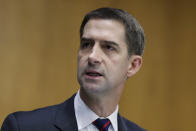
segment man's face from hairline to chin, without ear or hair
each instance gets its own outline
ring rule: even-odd
[[[123,24],[116,20],[89,20],[78,52],[77,77],[81,88],[95,93],[122,88],[129,66]]]

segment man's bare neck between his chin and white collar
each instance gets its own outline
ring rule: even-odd
[[[80,89],[80,97],[84,103],[99,117],[107,117],[111,115],[120,100],[120,94],[93,95],[87,93],[83,88]]]

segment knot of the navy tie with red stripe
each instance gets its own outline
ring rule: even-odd
[[[99,131],[108,131],[108,128],[111,123],[109,119],[98,118],[93,122],[93,124],[99,129]]]

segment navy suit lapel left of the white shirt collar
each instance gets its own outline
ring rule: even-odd
[[[74,110],[74,98],[75,94],[57,108],[54,124],[61,131],[78,130]]]

